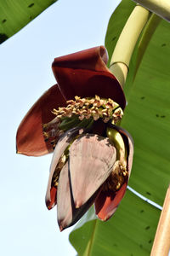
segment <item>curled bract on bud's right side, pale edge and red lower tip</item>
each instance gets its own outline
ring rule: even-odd
[[[128,178],[130,177],[132,165],[133,165],[133,138],[131,135],[122,127],[118,127],[113,125],[114,128],[122,134],[123,140],[127,145],[127,170],[128,170]],[[113,192],[109,190],[108,192],[101,191],[96,198],[94,205],[95,211],[98,217],[102,220],[107,220],[111,218],[114,212],[116,212],[116,208],[118,207],[120,201],[126,192],[127,182],[122,185],[122,188],[118,191]]]

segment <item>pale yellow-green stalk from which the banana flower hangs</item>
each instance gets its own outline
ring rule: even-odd
[[[141,6],[136,6],[129,16],[126,25],[116,43],[111,57],[110,70],[116,79],[124,85],[127,78],[129,61],[133,54],[133,49],[142,32],[144,25],[149,19],[150,12]]]

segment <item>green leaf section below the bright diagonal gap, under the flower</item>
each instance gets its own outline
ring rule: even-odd
[[[127,191],[107,222],[94,219],[90,209],[71,232],[70,241],[79,256],[150,255],[159,215],[160,210]]]

